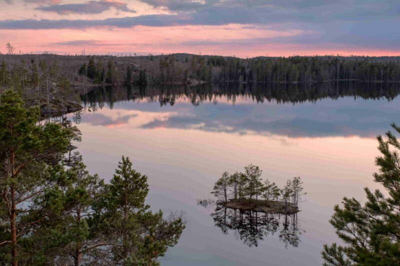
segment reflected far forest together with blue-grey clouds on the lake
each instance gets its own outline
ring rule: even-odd
[[[81,98],[86,110],[92,113],[85,119],[93,125],[119,126],[128,124],[131,119],[143,121],[140,115],[151,112],[158,115],[151,115],[151,119],[137,127],[290,138],[375,138],[400,115],[396,98],[399,92],[394,84],[375,83],[149,86],[98,88]],[[105,103],[110,109],[118,109],[118,117],[107,116],[105,112],[93,114]],[[156,103],[159,103],[158,108]],[[121,108],[121,105],[124,106]]]

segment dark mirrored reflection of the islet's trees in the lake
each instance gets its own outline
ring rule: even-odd
[[[304,232],[298,228],[297,214],[267,214],[217,206],[211,217],[222,234],[234,231],[236,238],[248,247],[257,247],[264,237],[278,231],[279,240],[286,249],[288,246],[297,247],[299,235]]]

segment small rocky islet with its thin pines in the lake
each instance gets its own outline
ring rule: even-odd
[[[244,172],[232,175],[224,172],[214,184],[213,194],[218,198],[217,208],[262,213],[294,214],[299,212],[298,202],[303,193],[299,177],[287,180],[282,189],[268,179],[261,179],[258,166],[248,165]]]

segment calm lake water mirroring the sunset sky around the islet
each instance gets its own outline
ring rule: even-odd
[[[163,266],[321,265],[322,245],[337,242],[333,206],[379,187],[375,137],[400,123],[398,92],[380,84],[96,89],[81,96],[76,146],[106,181],[121,155],[130,157],[148,176],[147,204],[185,213]],[[301,177],[297,219],[197,204],[213,199],[222,172],[250,163],[278,186]]]

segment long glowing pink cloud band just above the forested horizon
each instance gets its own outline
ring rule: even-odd
[[[398,55],[400,49],[365,48],[338,43],[290,43],[285,38],[314,36],[314,31],[257,27],[247,24],[222,26],[186,25],[133,28],[95,27],[79,29],[0,30],[3,43],[11,42],[18,52],[160,54],[174,52],[235,55]],[[275,38],[278,38],[276,41]],[[5,49],[5,47],[4,47]],[[4,51],[3,51],[4,52]]]

